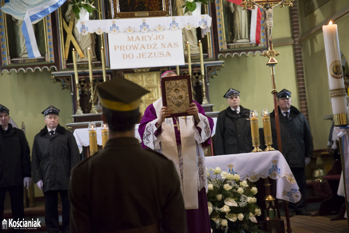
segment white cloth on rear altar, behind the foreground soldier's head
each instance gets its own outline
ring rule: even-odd
[[[138,126],[137,124],[134,129],[134,136],[138,139],[139,142],[141,142],[141,137],[138,133]],[[101,133],[101,127],[97,128],[97,144],[102,145],[102,133]],[[90,145],[90,139],[88,134],[88,128],[81,128],[81,129],[75,129],[73,133],[77,147],[79,148],[79,152],[82,152],[82,146],[89,146]]]

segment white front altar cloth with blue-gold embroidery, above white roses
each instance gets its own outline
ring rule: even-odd
[[[230,169],[228,165],[233,167]],[[297,182],[280,151],[210,156],[206,157],[206,167],[237,173],[241,181],[256,182],[269,176],[276,180],[276,198],[294,203],[300,200]]]

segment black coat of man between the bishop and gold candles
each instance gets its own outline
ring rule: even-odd
[[[218,114],[215,155],[250,153],[253,150],[250,110],[240,105],[240,113],[230,106]]]

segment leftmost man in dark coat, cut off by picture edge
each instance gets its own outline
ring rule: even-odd
[[[13,219],[23,220],[23,183],[29,188],[31,180],[30,149],[22,130],[12,127],[9,109],[0,104],[0,215],[3,219],[5,195],[11,198]],[[23,232],[21,229],[15,232]]]

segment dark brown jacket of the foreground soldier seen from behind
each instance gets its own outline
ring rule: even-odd
[[[172,161],[142,149],[134,137],[107,141],[103,151],[73,168],[71,232],[117,232],[162,223],[186,233],[184,201]]]

